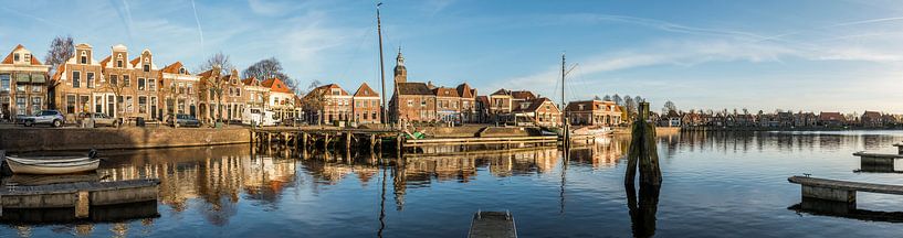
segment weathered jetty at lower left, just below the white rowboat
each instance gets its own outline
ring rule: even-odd
[[[6,208],[75,207],[75,217],[87,217],[90,206],[157,201],[159,180],[77,182],[0,188],[0,215]]]

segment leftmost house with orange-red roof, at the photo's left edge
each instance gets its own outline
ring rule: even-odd
[[[46,108],[49,68],[21,44],[0,62],[0,120]]]

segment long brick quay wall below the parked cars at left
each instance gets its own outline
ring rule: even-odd
[[[246,128],[9,128],[0,129],[0,150],[81,151],[201,147],[251,142]]]

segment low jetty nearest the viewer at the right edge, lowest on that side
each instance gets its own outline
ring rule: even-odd
[[[855,207],[855,193],[880,193],[903,195],[903,186],[889,184],[873,184],[838,180],[816,178],[808,176],[791,176],[787,181],[802,186],[804,198],[843,202]]]

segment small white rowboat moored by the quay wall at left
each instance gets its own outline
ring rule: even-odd
[[[101,159],[88,156],[34,156],[19,158],[6,155],[7,164],[14,174],[72,174],[97,170]]]

